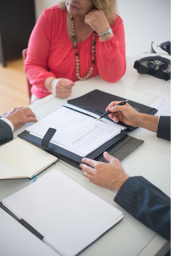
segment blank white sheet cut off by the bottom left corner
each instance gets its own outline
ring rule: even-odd
[[[0,208],[1,256],[60,256]]]

